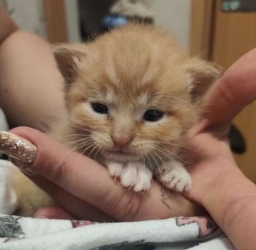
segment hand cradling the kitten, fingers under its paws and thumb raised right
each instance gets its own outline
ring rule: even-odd
[[[205,116],[188,134],[188,143],[193,153],[197,154],[198,161],[192,166],[193,188],[185,196],[206,207],[206,200],[215,195],[216,190],[230,190],[228,187],[234,181],[246,180],[230,153],[226,128],[234,115],[254,100],[256,75],[254,64],[250,62],[255,57],[256,51],[253,50],[220,78],[206,102]],[[240,82],[245,84],[241,85]],[[153,182],[146,195],[136,196],[114,182],[102,166],[86,157],[78,157],[77,153],[67,153],[67,149],[49,141],[45,135],[26,128],[14,129],[12,132],[38,146],[38,157],[31,169],[40,177],[33,178],[33,181],[80,219],[88,219],[93,214],[102,216],[103,220],[106,217],[146,220],[195,214],[187,200],[174,192],[164,194],[156,182]],[[66,159],[63,157],[65,155],[69,157]],[[81,165],[86,166],[86,171],[79,167]],[[51,208],[38,212],[38,216],[42,214],[57,216],[56,210]]]

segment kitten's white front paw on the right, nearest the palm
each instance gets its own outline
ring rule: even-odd
[[[180,162],[171,161],[160,168],[157,177],[166,188],[174,189],[177,192],[190,190],[192,186],[190,174]]]

